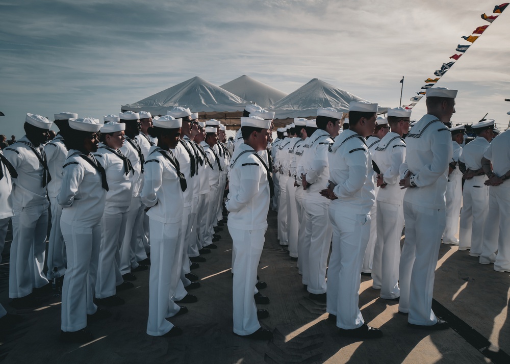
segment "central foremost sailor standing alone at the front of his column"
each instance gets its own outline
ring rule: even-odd
[[[230,212],[228,231],[233,240],[234,332],[258,340],[270,340],[273,336],[260,326],[259,318],[269,314],[257,310],[253,297],[271,197],[269,167],[257,152],[267,146],[270,125],[271,120],[241,118],[244,143],[233,155],[230,193],[225,202]]]

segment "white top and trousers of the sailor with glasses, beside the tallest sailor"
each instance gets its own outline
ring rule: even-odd
[[[404,191],[400,189],[400,165],[405,160],[405,142],[397,133],[384,136],[375,149],[373,159],[384,176],[385,188],[378,190],[377,243],[380,259],[374,257],[372,287],[380,289],[380,297],[394,299],[400,296],[398,288],[398,265],[400,262],[400,238],[404,226],[402,202]]]

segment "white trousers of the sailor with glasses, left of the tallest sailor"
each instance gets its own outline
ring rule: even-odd
[[[404,227],[402,205],[377,201],[377,242],[375,251],[380,259],[372,266],[372,287],[380,289],[380,297],[394,299],[400,296],[398,266],[400,263],[400,238]]]

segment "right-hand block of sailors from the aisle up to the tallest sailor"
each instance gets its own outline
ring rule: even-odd
[[[351,102],[349,128],[340,135],[343,115],[327,108],[318,110],[316,120],[295,119],[286,128],[290,138],[273,143],[278,238],[298,257],[304,288],[326,302],[341,335],[381,335],[364,323],[358,307],[362,272],[371,273],[381,298],[399,300],[410,326],[448,327],[433,314],[431,301],[453,153],[445,124],[455,96],[456,90],[427,90],[428,114],[411,131],[411,111],[391,109],[388,119],[376,119],[377,104]]]

